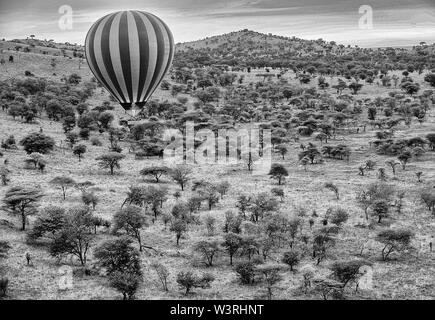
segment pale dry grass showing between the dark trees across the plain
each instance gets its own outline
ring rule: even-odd
[[[90,79],[90,73],[87,66],[78,70],[77,59],[57,58],[59,71],[57,76],[53,76],[53,72],[49,65],[51,57],[35,54],[21,54],[18,63],[14,64],[14,68],[8,65],[7,73],[2,73],[1,79],[13,78],[17,75],[22,75],[25,70],[34,72],[38,76],[44,76],[52,80],[59,80],[65,73],[69,75],[72,72],[78,72],[84,80]],[[253,71],[255,74],[255,71]],[[253,81],[252,74],[247,74],[247,81]],[[415,76],[419,82],[419,76]],[[256,79],[257,81],[258,79]],[[295,80],[292,80],[295,82]],[[336,79],[334,79],[336,81]],[[377,85],[365,85],[360,98],[373,97],[375,95],[386,95],[388,89]],[[158,91],[157,98],[170,99],[168,92]],[[98,92],[91,101],[93,105],[101,103],[107,99],[106,94]],[[118,110],[119,111],[119,110]],[[120,112],[118,112],[120,114]],[[122,169],[114,176],[108,175],[106,171],[98,168],[97,162],[94,160],[107,150],[107,137],[101,135],[101,140],[104,141],[102,147],[91,146],[89,142],[85,142],[88,151],[84,155],[82,162],[72,155],[71,150],[59,147],[61,141],[64,140],[64,134],[59,123],[41,120],[39,124],[25,124],[19,121],[12,120],[11,117],[0,113],[0,140],[13,134],[19,141],[26,134],[38,131],[43,128],[44,133],[54,137],[56,140],[56,150],[48,155],[48,166],[46,173],[38,173],[33,170],[24,168],[24,159],[26,154],[22,150],[6,151],[4,157],[9,159],[9,167],[13,171],[11,185],[37,186],[44,191],[44,198],[41,206],[49,204],[61,206],[74,206],[81,202],[80,193],[77,190],[70,189],[67,192],[65,201],[61,198],[59,190],[53,189],[49,185],[49,181],[58,175],[69,175],[76,181],[90,180],[94,182],[101,191],[98,195],[101,202],[96,208],[96,214],[106,219],[111,219],[116,210],[121,206],[125,192],[130,185],[144,184],[152,185],[153,183],[144,181],[139,175],[139,171],[152,164],[159,163],[157,159],[149,159],[138,161],[134,159],[132,154],[127,154],[125,160],[122,161]],[[414,123],[410,128],[402,126],[396,133],[396,137],[411,137],[424,136],[427,132],[435,131],[434,110],[423,125]],[[379,166],[384,166],[386,157],[378,156],[374,150],[368,146],[368,141],[373,139],[374,130],[367,128],[367,132],[360,134],[349,134],[340,136],[337,141],[331,140],[331,144],[344,143],[351,146],[353,153],[349,162],[336,161],[327,159],[324,165],[309,166],[305,172],[302,167],[297,164],[297,153],[299,152],[300,143],[305,143],[304,139],[299,143],[289,145],[289,154],[285,160],[281,160],[276,156],[275,161],[286,166],[289,171],[289,177],[285,189],[285,200],[281,203],[280,211],[285,214],[293,215],[294,208],[305,206],[308,208],[308,214],[313,210],[319,214],[316,226],[320,226],[321,216],[330,206],[342,206],[349,210],[351,218],[346,223],[343,232],[340,234],[340,239],[336,247],[332,250],[330,259],[316,267],[317,274],[327,272],[328,265],[332,259],[351,259],[357,256],[359,247],[362,242],[374,237],[375,233],[384,228],[383,226],[375,226],[373,229],[360,228],[356,225],[364,222],[363,212],[356,205],[355,195],[360,188],[376,181],[376,172],[370,172],[366,176],[358,176],[357,168],[367,159],[374,159]],[[100,137],[98,134],[95,136]],[[307,139],[308,141],[308,139]],[[124,147],[124,153],[127,148]],[[427,153],[419,161],[414,161],[406,171],[398,170],[397,178],[393,179],[389,169],[388,182],[395,185],[397,189],[406,191],[404,212],[401,215],[392,214],[392,219],[388,220],[395,226],[410,227],[416,232],[417,238],[414,241],[414,246],[420,246],[421,242],[433,235],[435,230],[435,220],[430,216],[429,212],[418,201],[418,190],[422,184],[417,182],[415,172],[423,171],[423,180],[425,184],[435,185],[435,154]],[[217,205],[215,209],[208,212],[206,209],[201,211],[201,216],[211,214],[217,218],[219,223],[222,223],[225,211],[235,209],[235,201],[240,193],[258,193],[270,190],[275,187],[275,182],[271,181],[268,176],[252,177],[241,166],[224,167],[218,165],[211,166],[196,166],[194,168],[195,179],[207,179],[211,181],[228,180],[231,183],[231,190],[227,196]],[[334,195],[326,190],[323,185],[327,181],[334,182],[340,190],[340,200],[336,200]],[[166,180],[164,185],[170,188],[170,193],[173,194],[179,187],[172,181]],[[0,187],[0,198],[3,198],[6,192],[6,187]],[[190,191],[183,193],[183,198],[188,197]],[[174,200],[168,201],[164,210],[169,211]],[[8,219],[18,225],[16,217],[7,216],[5,212],[0,211],[0,219]],[[34,218],[30,219],[30,224]],[[306,220],[308,218],[305,218]],[[306,222],[306,221],[305,221]],[[220,229],[220,226],[218,226]],[[304,224],[304,232],[309,232],[309,226]],[[108,234],[99,234],[93,244],[93,248],[104,239],[111,237]],[[137,294],[139,299],[170,299],[180,298],[181,292],[176,287],[175,276],[178,271],[184,268],[190,268],[194,265],[197,271],[208,271],[215,275],[216,280],[212,288],[207,290],[198,289],[196,294],[189,296],[193,299],[253,299],[264,296],[264,288],[262,286],[242,286],[239,284],[236,274],[228,266],[228,258],[221,256],[216,266],[212,268],[202,268],[197,266],[197,259],[193,258],[195,254],[191,247],[200,239],[207,238],[204,227],[192,226],[185,239],[182,239],[179,247],[175,246],[175,238],[168,230],[164,230],[161,222],[156,222],[149,228],[143,231],[144,243],[151,245],[159,250],[160,255],[155,255],[151,252],[142,254],[142,263],[144,273],[147,274],[145,282],[140,287]],[[0,239],[7,240],[12,244],[9,258],[6,261],[6,272],[10,279],[10,298],[12,299],[114,299],[120,295],[106,285],[106,280],[101,276],[74,276],[74,286],[70,290],[59,290],[58,282],[60,279],[59,267],[60,264],[50,257],[49,253],[44,248],[30,247],[25,243],[25,234],[16,229],[7,229],[0,227]],[[33,266],[27,267],[25,261],[25,253],[30,252],[33,256]],[[353,299],[433,299],[435,297],[435,289],[432,285],[434,280],[433,270],[435,268],[435,256],[428,252],[428,247],[422,248],[422,252],[416,257],[416,254],[407,255],[405,258],[398,258],[389,263],[379,261],[380,245],[373,240],[369,241],[367,249],[364,252],[365,257],[374,262],[374,289],[370,292],[361,292],[357,295],[351,295]],[[89,254],[89,264],[92,265],[94,260],[92,252]],[[167,266],[170,270],[170,292],[165,293],[161,290],[156,274],[151,270],[150,263],[158,259],[161,263]],[[78,268],[77,262],[64,261]],[[304,259],[301,265],[312,264],[313,261],[308,257]],[[286,272],[284,280],[280,282],[279,288],[276,290],[275,298],[280,299],[301,299],[305,296],[297,294],[297,287],[301,283],[301,275],[299,273]],[[305,298],[318,298],[308,296]]]

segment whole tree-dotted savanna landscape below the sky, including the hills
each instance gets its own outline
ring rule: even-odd
[[[434,45],[182,43],[134,117],[81,46],[0,58],[0,299],[434,298]],[[186,121],[271,129],[270,171],[164,163]]]

